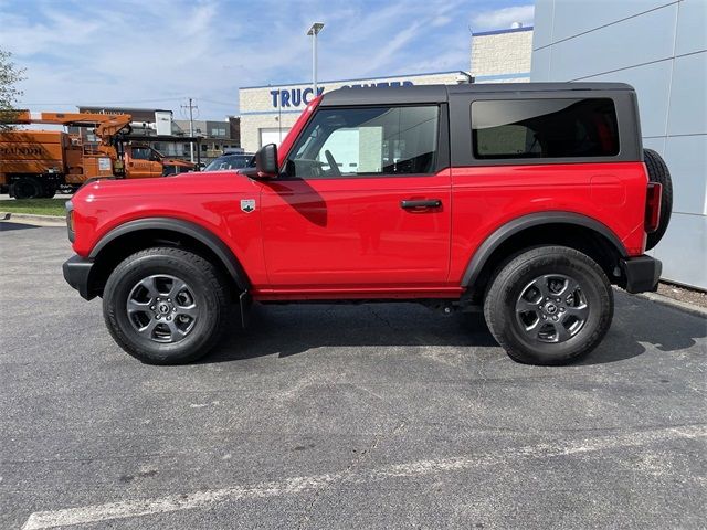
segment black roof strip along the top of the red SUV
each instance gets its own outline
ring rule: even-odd
[[[569,91],[633,91],[625,83],[469,83],[462,85],[414,85],[338,88],[327,92],[321,106],[391,105],[400,103],[444,103],[450,95],[463,94],[520,94]]]

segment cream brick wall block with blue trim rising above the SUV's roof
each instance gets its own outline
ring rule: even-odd
[[[532,28],[472,34],[471,74],[475,83],[530,81]]]

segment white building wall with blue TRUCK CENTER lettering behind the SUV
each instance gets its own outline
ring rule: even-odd
[[[409,83],[413,85],[455,84],[457,76],[462,73],[463,72],[440,72],[370,80],[321,82],[318,88],[324,88],[326,93],[341,88],[342,86],[378,85],[381,83]],[[262,146],[261,138],[263,136],[268,140],[279,138],[281,136],[282,138],[285,137],[306,106],[306,103],[302,100],[302,94],[308,88],[312,89],[310,83],[239,89],[241,146],[245,152],[256,151]],[[288,93],[288,100],[286,102],[282,99],[283,92]],[[295,100],[293,100],[293,95]],[[295,103],[297,104],[295,105]]]

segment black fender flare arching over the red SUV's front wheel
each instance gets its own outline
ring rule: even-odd
[[[247,279],[247,275],[245,274],[245,271],[241,266],[241,263],[235,257],[231,248],[229,248],[229,246],[213,232],[204,229],[199,224],[184,221],[182,219],[144,218],[137,219],[135,221],[128,221],[127,223],[120,224],[119,226],[116,226],[107,234],[105,234],[93,247],[91,254],[88,255],[88,258],[95,259],[98,254],[101,254],[101,251],[103,251],[116,239],[131,232],[139,232],[143,230],[168,230],[170,232],[183,234],[199,241],[211,252],[213,252],[213,254],[221,261],[231,277],[234,279],[239,289],[249,289],[250,282]]]

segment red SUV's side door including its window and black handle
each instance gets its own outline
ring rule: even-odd
[[[446,124],[446,105],[318,109],[279,178],[263,182],[272,286],[443,284],[451,222]]]

